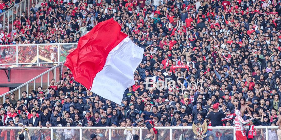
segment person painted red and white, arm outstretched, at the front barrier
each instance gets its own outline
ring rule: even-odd
[[[247,140],[247,137],[246,137],[245,133],[243,132],[244,131],[243,124],[249,123],[250,121],[252,121],[254,119],[254,117],[244,121],[244,119],[241,117],[242,114],[241,114],[240,110],[235,110],[234,113],[236,114],[236,117],[233,121],[233,124],[235,124],[235,128],[236,128],[236,133],[235,133],[236,140]]]

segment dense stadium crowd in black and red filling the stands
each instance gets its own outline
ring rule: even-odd
[[[11,1],[0,0],[0,9],[3,2]],[[145,111],[153,112],[155,126],[204,120],[232,126],[234,118],[225,117],[237,109],[245,120],[254,117],[246,125],[275,126],[281,118],[280,1],[44,0],[32,6],[30,15],[16,17],[11,35],[4,31],[3,44],[77,42],[76,31],[113,18],[145,49],[143,61],[121,105],[87,90],[67,70],[47,93],[38,87],[0,103],[0,126],[145,126]],[[176,88],[166,84],[171,80]],[[147,88],[162,86],[159,81],[165,89]]]

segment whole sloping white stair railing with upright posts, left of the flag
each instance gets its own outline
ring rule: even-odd
[[[55,81],[60,80],[60,78],[61,78],[60,73],[62,72],[62,65],[63,65],[64,62],[58,63],[56,66],[54,66],[54,67],[48,69],[47,71],[41,73],[37,77],[34,77],[31,80],[25,82],[21,86],[18,86],[17,88],[2,94],[0,96],[0,100],[2,100],[3,103],[5,103],[5,98],[12,93],[15,94],[15,97],[17,99],[20,99],[21,93],[23,91],[27,91],[27,93],[31,93],[31,91],[36,90],[38,86],[41,86],[43,91],[47,90],[46,93],[48,93],[48,86],[50,84],[50,81],[52,79],[54,79]]]

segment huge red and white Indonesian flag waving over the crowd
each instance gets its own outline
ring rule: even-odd
[[[79,39],[65,62],[75,81],[117,104],[126,88],[135,84],[134,72],[144,52],[120,30],[113,19],[100,22]]]

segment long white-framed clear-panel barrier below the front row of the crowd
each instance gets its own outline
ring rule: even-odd
[[[1,137],[10,134],[11,139],[16,139],[22,127],[1,127]],[[150,132],[143,127],[27,127],[31,139],[75,139],[89,140],[92,133],[98,134],[102,140],[126,140],[137,134],[140,140],[150,139]],[[195,139],[192,127],[155,127],[158,130],[157,140],[186,140]],[[254,139],[277,140],[278,126],[255,126]],[[23,132],[27,139],[27,132]],[[235,140],[235,128],[232,126],[208,127],[205,133],[209,140]],[[277,138],[277,139],[274,139]]]

